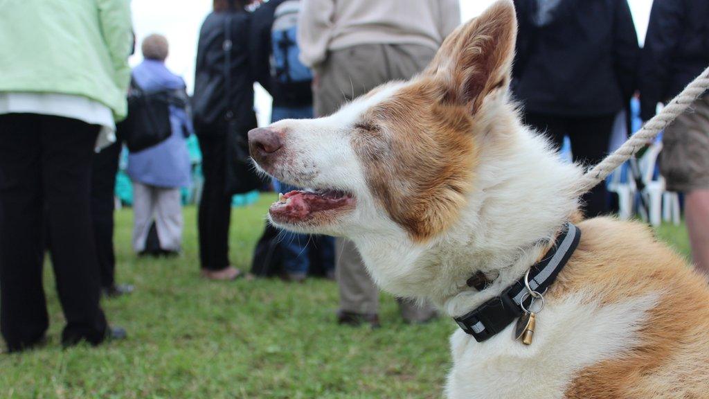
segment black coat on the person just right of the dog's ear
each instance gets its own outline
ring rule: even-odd
[[[626,0],[562,0],[547,24],[534,22],[536,0],[514,2],[513,92],[525,111],[600,116],[627,104],[640,48]]]

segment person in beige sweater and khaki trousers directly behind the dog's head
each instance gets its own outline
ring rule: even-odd
[[[390,80],[408,80],[432,60],[460,24],[458,0],[302,0],[301,61],[315,72],[316,116]],[[337,239],[340,324],[379,326],[379,290],[352,241]],[[406,322],[435,317],[432,305],[401,301]]]

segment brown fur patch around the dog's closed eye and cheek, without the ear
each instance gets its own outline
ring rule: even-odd
[[[450,226],[473,178],[474,121],[440,94],[431,80],[402,89],[369,110],[352,139],[372,192],[416,240]]]

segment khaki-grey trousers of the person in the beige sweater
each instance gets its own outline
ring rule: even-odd
[[[340,106],[391,80],[407,80],[423,70],[435,50],[420,45],[355,45],[331,51],[316,71],[318,82],[313,88],[317,116],[327,116]],[[367,273],[352,241],[337,239],[335,273],[340,285],[340,310],[376,314],[379,290]],[[418,307],[399,300],[401,315],[408,322],[430,319],[432,306]]]

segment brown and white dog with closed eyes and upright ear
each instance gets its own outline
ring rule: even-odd
[[[512,2],[498,1],[413,80],[251,131],[259,168],[313,189],[281,197],[272,223],[352,239],[381,288],[452,317],[520,279],[576,219],[582,170],[520,123],[508,94],[515,34]],[[447,395],[708,398],[706,281],[640,224],[577,225],[533,344],[513,326],[482,343],[458,330]],[[481,291],[466,283],[479,271],[496,276]]]

